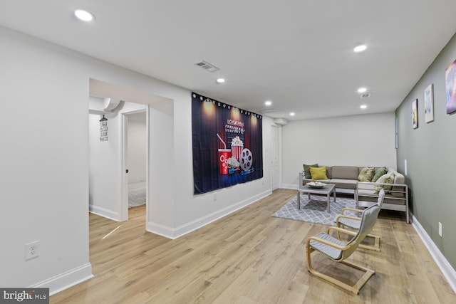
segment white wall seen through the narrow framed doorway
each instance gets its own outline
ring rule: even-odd
[[[128,115],[128,184],[145,182],[146,124],[145,112]]]

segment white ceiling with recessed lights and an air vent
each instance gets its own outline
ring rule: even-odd
[[[455,34],[455,11],[455,0],[0,0],[0,25],[246,110],[271,100],[269,116],[298,120],[395,110]]]

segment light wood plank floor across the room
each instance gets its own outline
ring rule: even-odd
[[[294,195],[276,190],[176,240],[145,232],[144,206],[130,209],[123,223],[90,214],[95,277],[53,295],[51,303],[456,303],[401,212],[381,211],[373,230],[382,238],[380,252],[360,248],[351,256],[376,271],[359,295],[311,276],[304,244],[325,226],[271,217]],[[313,255],[317,270],[358,278]]]

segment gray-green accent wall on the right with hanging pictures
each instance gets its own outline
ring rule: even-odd
[[[456,161],[456,112],[446,113],[445,69],[455,60],[456,38],[453,36],[396,110],[398,170],[405,172],[406,160],[411,211],[453,268],[456,268],[456,162],[452,159]],[[424,90],[431,83],[434,121],[426,123]],[[415,99],[418,99],[417,129],[412,127]],[[439,222],[442,237],[438,234]]]

